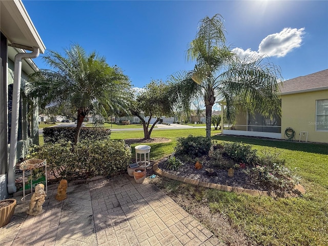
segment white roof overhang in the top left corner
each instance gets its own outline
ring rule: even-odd
[[[7,37],[9,45],[25,46],[26,50],[33,50],[33,47],[37,47],[40,53],[45,52],[46,47],[22,1],[0,1],[0,10],[1,32]]]

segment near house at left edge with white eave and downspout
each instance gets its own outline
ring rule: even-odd
[[[28,101],[18,95],[25,93],[27,75],[38,70],[31,58],[46,48],[22,1],[0,1],[0,13],[0,199],[4,199],[16,191],[17,160],[38,143],[38,112],[28,114]]]

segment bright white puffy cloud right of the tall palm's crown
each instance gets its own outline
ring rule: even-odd
[[[304,28],[284,28],[279,33],[270,34],[265,37],[260,43],[258,51],[252,51],[251,49],[243,50],[241,48],[235,48],[232,51],[240,58],[264,54],[283,57],[293,49],[301,46],[302,38],[305,33],[304,30]]]

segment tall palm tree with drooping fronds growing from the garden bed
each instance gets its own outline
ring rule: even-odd
[[[206,107],[206,136],[211,136],[212,107],[216,100],[227,103],[227,119],[242,105],[255,112],[272,116],[280,112],[277,96],[280,70],[266,57],[241,60],[226,46],[224,25],[220,14],[200,20],[197,35],[187,50],[187,60],[196,60],[193,71],[171,76],[176,100],[183,107],[200,96]]]

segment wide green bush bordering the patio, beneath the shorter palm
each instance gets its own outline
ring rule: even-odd
[[[125,172],[131,160],[131,148],[124,140],[80,141],[33,146],[27,158],[47,159],[49,170],[67,179],[111,176]]]

